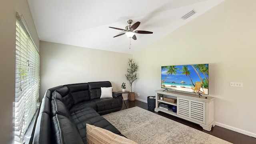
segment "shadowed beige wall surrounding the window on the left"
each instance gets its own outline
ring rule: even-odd
[[[30,14],[27,0],[3,0],[0,8],[0,140],[12,143],[12,102],[15,89],[15,32],[16,12],[23,14],[33,39],[39,48],[39,40]]]

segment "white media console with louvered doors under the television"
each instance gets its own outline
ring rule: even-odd
[[[159,94],[164,94],[164,97],[176,99],[177,101],[176,103],[170,103],[160,100]],[[199,94],[194,93],[156,90],[155,112],[161,111],[173,116],[177,116],[179,118],[199,124],[204,130],[210,131],[212,126],[215,126],[214,99],[214,97],[206,95],[199,97]],[[177,112],[173,112],[171,109],[166,110],[159,108],[158,104],[160,102],[177,106]]]

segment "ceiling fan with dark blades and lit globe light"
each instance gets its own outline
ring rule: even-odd
[[[136,28],[138,28],[138,26],[140,25],[140,22],[136,22],[135,24],[132,24],[132,20],[128,20],[127,21],[129,26],[126,26],[125,27],[125,30],[122,29],[122,28],[114,28],[114,27],[109,27],[109,28],[114,28],[114,29],[117,29],[117,30],[122,30],[124,31],[124,33],[122,34],[118,34],[116,36],[114,36],[113,38],[117,37],[117,36],[122,36],[123,34],[126,34],[126,36],[128,36],[128,38],[132,38],[134,40],[137,40],[136,36],[135,36],[135,33],[137,34],[153,34],[153,32],[149,32],[149,31],[144,31],[144,30],[136,30],[134,31]]]

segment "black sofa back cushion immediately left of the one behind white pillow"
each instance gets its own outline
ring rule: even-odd
[[[77,104],[79,102],[84,102],[86,100],[90,100],[87,83],[70,84],[67,86],[68,86],[68,88],[70,90],[70,94],[74,100],[74,104]]]

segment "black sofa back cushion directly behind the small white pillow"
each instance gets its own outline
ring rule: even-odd
[[[109,81],[105,82],[88,82],[88,88],[90,92],[90,100],[95,98],[100,98],[101,95],[101,87],[111,87],[111,83]]]

